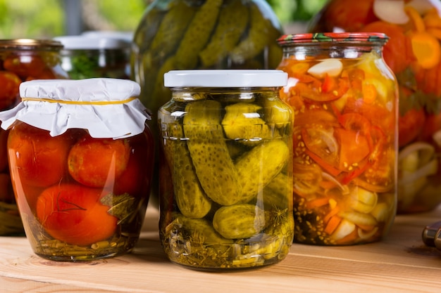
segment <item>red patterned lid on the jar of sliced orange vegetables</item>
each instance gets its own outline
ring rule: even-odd
[[[389,37],[382,32],[315,32],[304,34],[284,34],[277,41],[278,44],[317,44],[317,43],[380,43],[384,44]]]

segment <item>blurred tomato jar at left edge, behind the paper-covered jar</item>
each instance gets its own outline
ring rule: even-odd
[[[0,111],[19,103],[21,82],[67,77],[60,67],[62,47],[44,39],[0,40]],[[0,235],[24,235],[9,175],[7,140],[8,131],[0,129]]]

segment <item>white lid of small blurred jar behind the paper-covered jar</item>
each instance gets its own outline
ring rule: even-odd
[[[103,50],[130,46],[129,41],[115,37],[61,36],[54,40],[61,42],[65,50]]]

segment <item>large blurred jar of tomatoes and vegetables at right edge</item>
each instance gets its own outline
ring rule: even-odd
[[[441,203],[441,2],[330,0],[311,32],[383,32],[399,84],[399,214]]]

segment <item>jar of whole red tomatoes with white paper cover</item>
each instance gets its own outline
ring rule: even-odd
[[[124,79],[35,80],[0,112],[13,190],[35,254],[104,259],[135,246],[149,200],[149,115]]]

